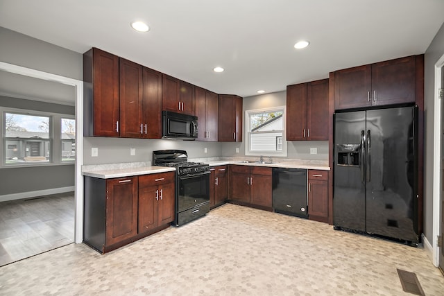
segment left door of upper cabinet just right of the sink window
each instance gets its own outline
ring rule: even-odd
[[[287,86],[287,140],[305,140],[306,136],[307,83],[289,85]]]

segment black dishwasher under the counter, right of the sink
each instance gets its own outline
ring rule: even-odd
[[[273,168],[273,209],[281,214],[308,218],[306,169]]]

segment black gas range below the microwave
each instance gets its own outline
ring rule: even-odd
[[[185,150],[153,151],[153,166],[176,168],[176,226],[184,225],[210,211],[210,166],[188,162]]]

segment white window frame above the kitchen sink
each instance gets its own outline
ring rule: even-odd
[[[282,112],[282,150],[276,151],[255,151],[250,149],[250,132],[251,130],[251,120],[250,116],[256,113],[265,113],[265,112]],[[273,156],[273,157],[287,157],[287,106],[278,106],[278,107],[267,107],[255,110],[246,110],[245,111],[245,155],[246,156]],[[275,133],[276,131],[272,131]],[[280,132],[280,130],[278,130]],[[253,132],[256,134],[266,134],[270,132]],[[276,145],[278,141],[276,140]]]

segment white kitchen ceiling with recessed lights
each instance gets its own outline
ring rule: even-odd
[[[98,47],[219,94],[253,96],[425,53],[443,12],[443,0],[0,0],[0,26],[78,53]],[[151,30],[133,31],[135,20]],[[294,49],[302,39],[310,46]],[[225,71],[214,73],[216,66]]]

